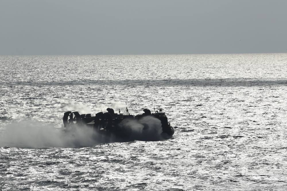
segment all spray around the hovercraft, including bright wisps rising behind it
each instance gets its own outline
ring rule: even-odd
[[[122,112],[127,105],[118,101],[99,101],[94,108],[96,112],[102,109],[115,108]],[[73,99],[59,99],[55,105],[51,105],[50,112],[43,111],[39,114],[42,121],[18,119],[1,127],[0,147],[77,147],[92,146],[100,143],[144,140],[161,140],[162,127],[159,119],[146,116],[140,120],[125,119],[119,127],[127,130],[130,134],[127,139],[114,139],[113,136],[97,133],[93,128],[74,126],[69,129],[63,128],[63,114],[65,111],[76,110],[80,114],[92,113],[87,105],[76,102]],[[129,110],[129,113],[133,111]],[[50,121],[48,123],[47,121]]]

